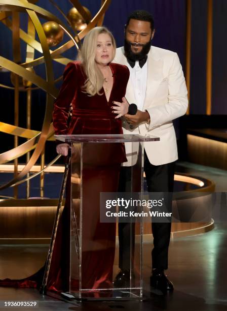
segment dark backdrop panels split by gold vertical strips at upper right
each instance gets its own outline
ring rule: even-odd
[[[207,0],[192,0],[191,114],[206,114]],[[213,0],[211,114],[227,114],[227,1]]]

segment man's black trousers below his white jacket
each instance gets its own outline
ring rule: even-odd
[[[147,159],[144,151],[144,172],[148,192],[170,193],[168,197],[168,211],[172,208],[173,181],[175,162],[153,165]],[[122,167],[120,173],[119,192],[130,191],[131,168]],[[152,267],[159,269],[168,268],[168,248],[170,242],[171,223],[152,223],[154,248],[152,251]],[[130,239],[130,233],[133,238]],[[130,254],[131,245],[131,254]],[[130,255],[134,257],[134,227],[130,223],[119,223],[119,267],[130,269]]]

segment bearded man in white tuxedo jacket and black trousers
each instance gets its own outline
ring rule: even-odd
[[[160,137],[160,141],[144,143],[144,171],[148,191],[172,193],[177,160],[176,135],[172,121],[187,110],[187,89],[177,54],[152,46],[154,34],[153,17],[143,10],[133,12],[125,26],[125,45],[117,49],[113,62],[129,68],[130,78],[125,98],[138,107],[135,115],[124,116],[124,134],[150,134]],[[126,153],[130,153],[130,150],[131,147],[126,144]],[[133,162],[128,161],[125,166],[134,165],[136,158]],[[124,178],[125,181],[130,179],[128,172],[124,167],[121,181]],[[119,191],[124,191],[124,187]],[[153,223],[152,230],[154,248],[150,285],[165,293],[173,290],[173,284],[164,272],[168,268],[171,223]],[[115,279],[115,285],[125,286],[130,275],[127,224],[119,224],[119,242],[121,270]]]

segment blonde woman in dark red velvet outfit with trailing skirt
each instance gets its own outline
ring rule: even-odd
[[[120,117],[128,112],[125,100],[129,70],[111,63],[116,43],[105,27],[93,28],[85,37],[81,61],[72,61],[64,71],[63,84],[54,104],[55,134],[122,134]],[[68,125],[69,106],[72,116]],[[117,192],[120,166],[126,162],[124,144],[106,144],[100,148],[101,161],[83,170],[82,288],[112,287],[116,224],[99,222],[99,193]],[[69,145],[57,143],[57,153],[67,155]],[[85,154],[86,155],[86,154]],[[92,157],[90,157],[92,159]],[[66,203],[59,222],[49,272],[47,290],[69,290],[70,179],[66,185]],[[44,268],[22,280],[1,281],[2,286],[37,287],[43,281]],[[75,287],[78,284],[75,282]]]

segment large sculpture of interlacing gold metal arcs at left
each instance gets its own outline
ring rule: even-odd
[[[51,0],[51,2],[54,3],[53,0]],[[82,17],[88,22],[87,12],[84,10],[79,0],[70,0],[70,2],[73,4],[75,8],[78,9]],[[59,77],[58,79],[54,80],[52,60],[55,60],[63,65],[68,64],[69,61],[71,61],[71,59],[63,57],[61,53],[67,51],[73,46],[75,46],[78,52],[80,52],[78,45],[80,44],[80,40],[82,40],[84,36],[89,32],[89,30],[92,29],[96,24],[97,25],[102,24],[105,11],[107,10],[110,2],[111,0],[101,0],[101,8],[97,12],[97,14],[93,17],[91,22],[88,23],[87,27],[83,29],[79,34],[77,33],[74,34],[74,30],[72,31],[60,19],[58,19],[55,15],[53,15],[49,11],[34,5],[33,4],[34,2],[31,3],[31,1],[28,2],[27,0],[0,0],[0,11],[2,11],[0,12],[0,21],[2,21],[8,28],[12,30],[14,39],[13,40],[14,62],[0,56],[0,69],[2,66],[4,70],[6,69],[14,73],[16,75],[17,85],[18,85],[18,78],[17,78],[18,76],[23,78],[23,81],[25,81],[24,83],[27,83],[26,81],[29,81],[27,85],[24,84],[28,87],[20,89],[20,91],[41,88],[47,93],[45,116],[41,132],[23,129],[16,125],[14,126],[6,125],[6,123],[0,122],[0,131],[14,135],[15,137],[20,136],[28,139],[25,143],[0,154],[0,163],[6,163],[8,161],[17,159],[21,155],[34,149],[31,158],[29,159],[23,170],[19,174],[17,174],[12,180],[2,185],[0,187],[0,190],[8,188],[9,186],[15,186],[41,174],[42,172],[45,171],[47,167],[51,166],[53,163],[57,161],[57,159],[60,158],[60,156],[58,156],[46,168],[42,169],[40,172],[37,172],[35,176],[27,175],[27,178],[23,179],[24,176],[30,171],[31,167],[35,164],[37,159],[40,157],[40,154],[44,150],[46,141],[53,140],[54,131],[51,119],[52,119],[54,98],[56,98],[58,95],[58,89],[55,87],[54,83],[59,79],[61,79],[62,77]],[[60,8],[58,9],[60,10]],[[22,29],[20,29],[19,12],[26,12],[28,14],[28,33],[25,33]],[[12,20],[9,18],[10,16],[12,16]],[[45,18],[46,20],[49,21],[57,22],[60,25],[60,27],[64,30],[64,32],[69,36],[70,40],[65,44],[61,45],[59,48],[55,50],[50,50],[47,44],[47,39],[44,33],[43,26],[38,16]],[[35,30],[37,32],[40,42],[35,40],[34,36]],[[19,55],[20,53],[19,54],[17,53],[17,50],[20,48],[19,44],[20,39],[27,44],[26,61],[23,64],[20,64],[21,63]],[[34,59],[34,50],[43,53],[43,56]],[[26,68],[33,68],[34,66],[43,63],[45,64],[46,67],[46,80],[36,75],[34,72],[26,69]],[[31,84],[36,85],[36,87],[30,87]],[[6,86],[3,84],[0,84],[0,86],[8,89],[15,89],[15,87]]]

